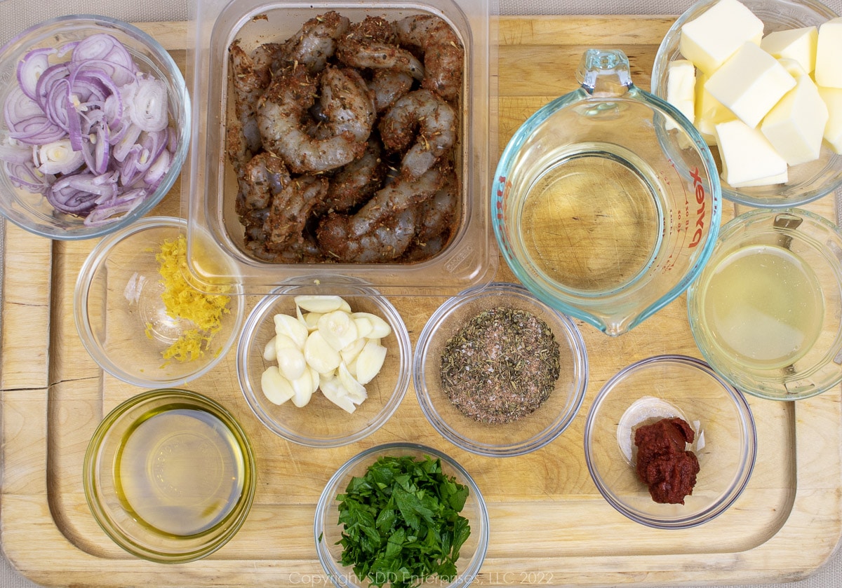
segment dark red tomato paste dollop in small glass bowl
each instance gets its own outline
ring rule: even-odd
[[[693,494],[699,460],[685,450],[695,432],[680,418],[661,419],[637,428],[637,476],[649,487],[652,500],[662,504],[684,504]]]

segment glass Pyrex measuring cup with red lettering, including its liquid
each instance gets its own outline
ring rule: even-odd
[[[705,141],[629,69],[620,50],[585,51],[581,87],[521,125],[492,188],[494,234],[520,282],[611,336],[688,288],[722,214]]]

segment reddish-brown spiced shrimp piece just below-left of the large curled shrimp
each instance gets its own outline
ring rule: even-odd
[[[326,177],[304,175],[290,181],[272,199],[264,225],[267,246],[282,250],[292,243],[304,242],[304,230],[310,211],[328,193]]]

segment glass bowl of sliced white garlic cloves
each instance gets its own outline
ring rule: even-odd
[[[359,441],[394,414],[409,386],[407,327],[386,297],[342,276],[284,285],[255,305],[237,377],[271,432],[307,447]]]

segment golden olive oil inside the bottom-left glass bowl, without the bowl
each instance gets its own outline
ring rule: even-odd
[[[193,408],[158,411],[126,433],[115,485],[139,521],[187,536],[232,510],[244,469],[237,438],[216,416]]]

